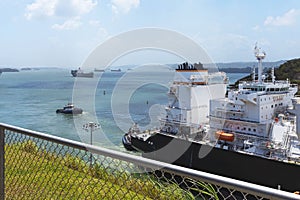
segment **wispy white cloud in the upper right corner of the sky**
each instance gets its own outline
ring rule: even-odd
[[[291,9],[284,13],[282,16],[268,16],[264,22],[266,26],[290,26],[296,22],[297,16],[299,15],[299,10]]]

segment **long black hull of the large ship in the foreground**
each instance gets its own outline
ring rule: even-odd
[[[293,163],[212,148],[160,133],[146,141],[132,137],[131,143],[146,158],[271,188],[280,186],[289,192],[300,191],[300,166]]]

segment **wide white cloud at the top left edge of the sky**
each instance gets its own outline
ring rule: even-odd
[[[89,13],[97,0],[35,0],[26,6],[25,17],[44,18],[52,16],[76,17]]]

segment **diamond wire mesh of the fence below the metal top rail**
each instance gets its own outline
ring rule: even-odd
[[[11,130],[5,130],[5,198],[265,199]]]

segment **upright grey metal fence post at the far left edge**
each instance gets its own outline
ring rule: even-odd
[[[5,185],[4,185],[4,127],[0,126],[0,200],[4,200],[5,198]]]

